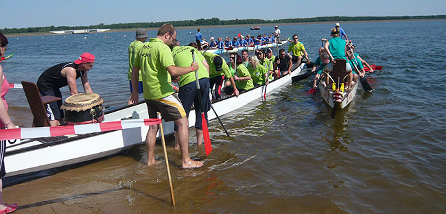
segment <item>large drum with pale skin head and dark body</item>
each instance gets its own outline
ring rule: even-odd
[[[65,99],[62,109],[67,125],[100,123],[104,120],[102,112],[104,100],[95,93],[80,93]]]

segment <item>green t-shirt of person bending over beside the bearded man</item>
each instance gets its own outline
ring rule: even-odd
[[[207,73],[207,69],[203,64],[204,56],[198,53],[198,50],[191,46],[177,46],[172,49],[172,56],[174,57],[175,65],[178,67],[190,67],[193,62],[191,49],[194,49],[195,60],[198,62],[198,80],[201,78],[209,78],[209,73]],[[180,81],[178,82],[178,86],[184,86],[185,84],[189,84],[191,82],[195,82],[195,72],[187,73],[185,75],[180,76]]]

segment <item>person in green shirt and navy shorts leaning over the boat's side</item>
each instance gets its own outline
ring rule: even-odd
[[[191,50],[195,52],[196,62],[198,63],[198,82],[200,84],[200,95],[202,101],[202,108],[204,112],[204,118],[207,120],[207,112],[211,107],[209,103],[209,64],[207,60],[198,53],[198,50],[191,46],[179,46],[179,43],[174,40],[171,46],[172,56],[174,56],[175,66],[177,67],[188,67],[193,62],[191,57]],[[180,98],[181,104],[186,112],[186,117],[189,119],[189,112],[191,111],[192,105],[199,106],[197,84],[196,84],[196,74],[195,72],[186,73],[180,75],[180,80],[178,81],[179,91],[178,98]],[[195,130],[197,137],[197,144],[201,145],[203,141],[203,128],[202,128],[202,117],[201,109],[195,108]],[[175,136],[178,136],[178,127],[174,126]],[[175,141],[175,149],[179,150],[180,145],[178,141]]]

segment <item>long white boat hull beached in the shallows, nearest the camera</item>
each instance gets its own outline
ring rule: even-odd
[[[292,76],[301,73],[304,64],[297,67],[291,75],[274,80],[268,84],[257,86],[249,91],[240,93],[239,97],[226,97],[213,103],[213,107],[219,116],[241,108],[246,104],[263,97],[264,90],[270,93],[291,82]],[[209,120],[215,119],[213,111],[208,113]],[[104,121],[120,121],[125,119],[148,118],[148,110],[144,102],[135,106],[124,106],[122,108],[106,112]],[[195,124],[195,112],[189,115],[189,127]],[[163,122],[165,135],[174,133],[174,123]],[[15,176],[43,169],[62,167],[86,160],[102,158],[127,150],[132,145],[143,143],[147,134],[148,126],[139,128],[128,128],[124,130],[100,132],[92,134],[56,136],[45,139],[21,139],[20,142],[7,143],[5,154],[6,176]]]

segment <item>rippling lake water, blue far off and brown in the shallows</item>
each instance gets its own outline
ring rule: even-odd
[[[333,24],[279,28],[286,37],[298,34],[315,60],[320,38],[329,38]],[[200,169],[180,169],[180,154],[167,139],[176,206],[170,204],[165,165],[145,166],[145,145],[30,175],[49,176],[19,184],[5,178],[9,187],[3,195],[19,203],[16,213],[445,213],[445,26],[446,21],[341,23],[362,58],[383,69],[367,75],[375,91],[359,88],[336,119],[319,93],[306,94],[310,78],[224,115],[231,139],[218,121],[210,121],[209,156],[189,130],[191,156],[204,160]],[[209,39],[274,29],[249,28],[202,32]],[[178,29],[177,38],[185,45],[195,33]],[[9,82],[36,82],[48,67],[89,51],[96,56],[89,71],[93,91],[117,108],[130,95],[127,47],[133,39],[134,32],[10,37],[6,53],[15,55],[1,66]],[[62,88],[64,98],[68,92]],[[6,99],[14,122],[31,126],[23,91],[11,89]],[[162,159],[161,145],[156,156]]]

